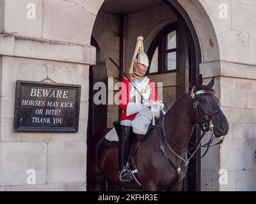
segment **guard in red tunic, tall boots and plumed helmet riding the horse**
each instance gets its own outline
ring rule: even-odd
[[[131,150],[132,131],[138,135],[146,135],[147,128],[154,117],[163,109],[157,103],[156,85],[145,76],[149,66],[148,56],[144,52],[143,37],[137,38],[128,77],[124,77],[120,87],[121,133],[119,145],[119,179],[131,181],[129,171],[129,153]],[[149,108],[151,107],[151,109]]]

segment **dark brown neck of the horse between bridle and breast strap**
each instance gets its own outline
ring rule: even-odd
[[[190,109],[191,98],[187,94],[164,116],[166,138],[175,146],[182,147],[181,149],[188,146],[195,128],[195,123],[191,121],[189,114]]]

